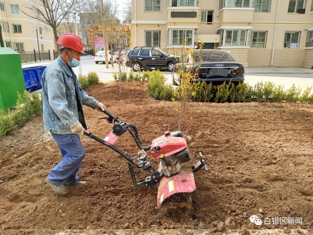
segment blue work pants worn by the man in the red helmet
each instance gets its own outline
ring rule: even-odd
[[[59,145],[62,161],[50,171],[48,180],[53,185],[78,184],[76,174],[85,156],[85,148],[81,144],[79,135],[51,134]]]

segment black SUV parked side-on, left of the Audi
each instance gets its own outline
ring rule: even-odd
[[[176,64],[174,55],[169,55],[155,47],[135,47],[126,56],[126,66],[134,71],[140,69],[167,69],[173,71]]]

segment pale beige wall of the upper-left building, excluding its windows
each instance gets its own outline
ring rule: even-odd
[[[38,26],[38,41],[39,49],[41,50],[41,44],[44,45],[44,50],[54,49],[54,37],[53,32],[49,30],[49,26],[38,22],[25,15],[23,11],[29,11],[25,6],[31,6],[29,1],[24,0],[0,0],[5,3],[5,12],[0,11],[0,20],[9,23],[9,33],[3,32],[3,41],[9,41],[12,43],[23,43],[25,51],[38,50],[36,28]],[[19,6],[19,13],[11,13],[10,4],[16,4]],[[12,24],[21,24],[22,33],[13,33]],[[40,34],[39,27],[42,28],[42,34]]]

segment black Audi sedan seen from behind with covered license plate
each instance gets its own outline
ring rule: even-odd
[[[202,62],[200,62],[200,53]],[[244,82],[244,66],[236,62],[229,53],[223,50],[203,49],[202,52],[200,50],[194,50],[194,53],[187,51],[179,58],[172,72],[172,84],[180,83],[179,76],[175,75],[177,69],[196,72],[198,66],[199,76],[196,81],[212,82],[216,85],[224,81],[232,81],[236,84]]]

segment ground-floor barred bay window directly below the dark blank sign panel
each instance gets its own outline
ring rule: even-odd
[[[171,29],[169,46],[184,45],[184,40],[187,38],[186,46],[194,45],[193,42],[194,29]]]

